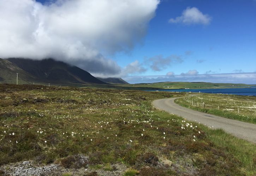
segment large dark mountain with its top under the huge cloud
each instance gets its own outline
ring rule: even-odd
[[[11,65],[12,69],[15,70],[15,73],[17,72],[16,70],[19,69],[19,78],[26,75],[25,80],[28,83],[35,82],[65,85],[106,84],[81,68],[61,61],[55,61],[54,59],[43,59],[37,61],[24,58],[8,58],[1,59],[1,61],[2,63],[5,63],[5,65]],[[2,70],[6,71],[5,67],[1,68],[1,72]],[[0,77],[2,77],[1,75]],[[2,77],[2,79],[5,80],[5,82],[8,82],[6,78]]]

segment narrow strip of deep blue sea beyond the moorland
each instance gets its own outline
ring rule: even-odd
[[[152,90],[150,90],[152,91]],[[213,94],[234,94],[234,95],[248,95],[256,96],[256,87],[251,88],[230,88],[230,89],[166,89],[159,90],[166,92],[202,92]]]

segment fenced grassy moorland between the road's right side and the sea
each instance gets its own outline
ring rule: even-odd
[[[193,101],[193,105],[192,105]],[[200,112],[256,124],[256,97],[224,94],[186,95],[175,100],[181,106]],[[205,107],[203,107],[205,103]]]

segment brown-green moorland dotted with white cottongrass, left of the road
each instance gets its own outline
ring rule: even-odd
[[[113,171],[119,163],[124,175],[256,174],[255,144],[151,105],[183,95],[0,84],[0,165],[76,168],[72,156],[83,154],[86,167]]]

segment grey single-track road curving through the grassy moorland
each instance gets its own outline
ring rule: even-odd
[[[190,121],[200,122],[201,124],[210,126],[212,128],[222,128],[226,132],[233,134],[238,138],[242,138],[252,143],[256,143],[255,124],[250,124],[238,120],[227,119],[212,114],[194,111],[174,103],[175,99],[178,98],[154,100],[152,104],[157,109],[176,114]]]

